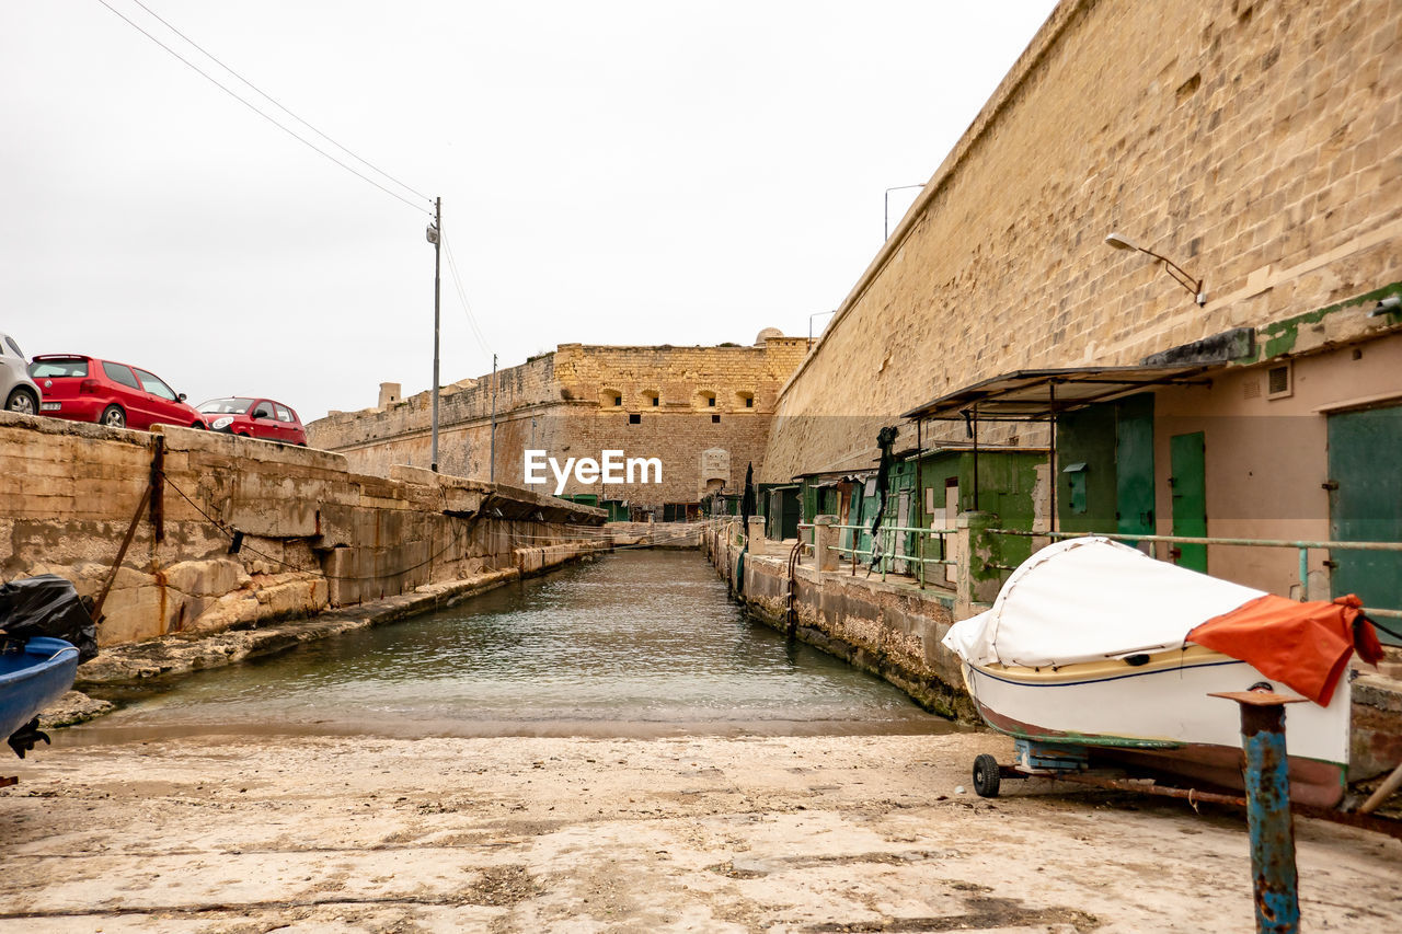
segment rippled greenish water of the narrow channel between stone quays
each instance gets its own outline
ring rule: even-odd
[[[618,551],[439,613],[136,694],[67,745],[199,733],[946,732],[885,682],[744,618],[697,551]]]

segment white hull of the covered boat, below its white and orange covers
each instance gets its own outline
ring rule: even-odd
[[[1143,658],[1143,656],[1141,656]],[[1137,666],[1123,659],[1056,670],[965,663],[983,719],[1019,739],[1087,746],[1095,759],[1242,788],[1241,715],[1209,694],[1266,682],[1255,668],[1199,647],[1162,652]],[[1276,691],[1294,696],[1281,684]],[[1290,797],[1333,806],[1349,763],[1349,683],[1328,707],[1286,708]]]

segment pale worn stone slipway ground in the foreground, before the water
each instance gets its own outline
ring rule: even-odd
[[[184,738],[0,774],[0,931],[1249,931],[1245,823],[977,798],[1002,738]],[[958,785],[969,788],[965,794]],[[1307,930],[1402,930],[1402,841],[1297,820]]]

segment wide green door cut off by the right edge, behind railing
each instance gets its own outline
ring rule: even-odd
[[[1329,417],[1329,537],[1402,541],[1402,405]],[[1335,548],[1333,595],[1402,610],[1402,554]],[[1388,628],[1399,620],[1380,617]],[[1399,639],[1378,632],[1384,641]]]

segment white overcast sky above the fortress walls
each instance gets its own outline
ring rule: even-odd
[[[0,4],[0,331],[304,421],[557,344],[806,334],[1050,14],[997,3]],[[916,189],[890,192],[892,227]],[[822,330],[826,317],[813,321]]]

